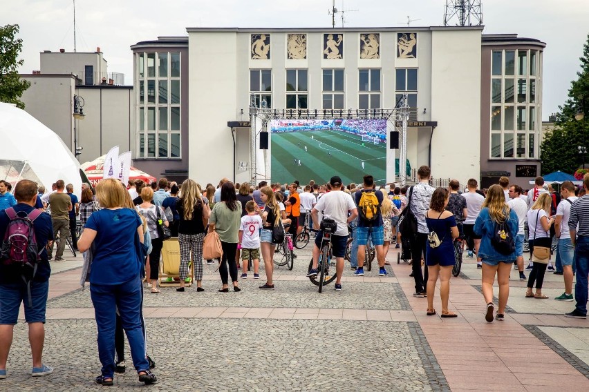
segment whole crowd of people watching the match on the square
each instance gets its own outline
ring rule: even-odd
[[[138,379],[145,384],[157,380],[151,373],[155,364],[147,355],[143,286],[151,293],[160,293],[160,257],[168,230],[169,235],[178,237],[180,247],[176,288],[180,293],[185,292],[190,268],[194,268],[196,292],[205,291],[203,263],[215,263],[203,260],[207,233],[216,233],[223,251],[217,261],[219,293],[230,292],[229,279],[232,291],[241,291],[239,279],[248,278],[250,261],[253,278],[259,279],[260,256],[265,282],[259,288],[275,288],[273,257],[278,244],[273,232],[281,225],[293,237],[307,224],[317,232],[307,274],[315,277],[324,246],[324,223],[333,222],[335,226],[330,232],[337,291],[342,290],[344,255],[350,235],[350,268],[357,276],[364,275],[366,246],[374,246],[379,275],[386,277],[389,247],[395,244],[395,248],[400,248],[402,244],[411,252],[413,295],[427,297],[427,315],[437,314],[433,302],[439,278],[440,317],[458,317],[449,309],[450,275],[455,263],[454,239],[465,238],[467,258],[476,257],[482,270],[487,322],[504,320],[512,265],[518,268],[520,279],[526,279],[526,232],[530,275],[525,297],[548,298],[542,286],[546,271],[554,269],[551,247],[555,236],[558,241],[554,273],[562,274],[565,283],[565,292],[555,300],[576,301],[574,310],[566,316],[586,318],[589,195],[585,193],[589,189],[589,175],[583,179],[581,189],[571,182],[561,184],[560,195],[544,188],[542,177],[536,178],[536,185],[529,191],[510,185],[505,177],[481,191],[476,179],[469,179],[464,192],[456,180],[449,183],[449,188],[433,188],[428,166],[419,168],[418,177],[418,184],[410,188],[390,184],[388,190],[385,186],[378,188],[371,175],[365,175],[359,186],[344,185],[337,175],[327,184],[311,181],[303,186],[298,181],[263,181],[257,186],[233,184],[227,178],[216,187],[202,187],[192,179],[176,184],[165,178],[153,184],[129,181],[124,186],[116,179],[104,179],[94,190],[83,184],[80,200],[73,195],[73,186],[63,180],[57,180],[48,193],[29,180],[21,180],[10,192],[10,184],[0,181],[0,237],[4,239],[0,253],[0,379],[7,375],[8,351],[21,303],[29,326],[31,374],[53,372],[42,362],[41,354],[50,261],[62,261],[64,253],[65,241],[60,241],[53,257],[57,235],[62,239],[71,236],[73,246],[84,255],[83,270],[88,271],[102,364],[95,381],[102,385],[112,385],[114,373],[125,369],[122,331],[127,333]],[[75,237],[78,216],[83,226],[80,238]],[[18,225],[20,233],[30,229],[30,235],[24,235],[26,241],[10,239]],[[24,259],[15,256],[18,246],[24,246]],[[577,283],[573,295],[574,273]],[[496,311],[495,279],[499,285]]]

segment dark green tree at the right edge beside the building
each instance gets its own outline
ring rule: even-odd
[[[581,166],[582,155],[579,150],[585,148],[585,161],[589,162],[589,118],[577,121],[574,115],[582,111],[589,117],[589,35],[583,45],[583,56],[579,57],[581,70],[577,72],[577,80],[571,82],[568,99],[559,106],[556,128],[544,135],[540,144],[542,173],[561,170],[574,173]]]

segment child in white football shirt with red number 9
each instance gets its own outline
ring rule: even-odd
[[[239,226],[239,244],[241,244],[241,261],[243,263],[241,279],[247,279],[250,256],[254,260],[254,279],[259,279],[262,218],[256,214],[256,203],[253,200],[245,203],[245,211],[247,215],[241,217],[241,226]]]

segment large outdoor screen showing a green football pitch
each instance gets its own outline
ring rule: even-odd
[[[386,182],[386,119],[278,119],[270,130],[272,182]]]

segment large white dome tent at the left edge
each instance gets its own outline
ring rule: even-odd
[[[40,121],[12,104],[0,102],[0,179],[14,185],[30,179],[51,191],[63,179],[80,195],[80,162],[64,141]]]

